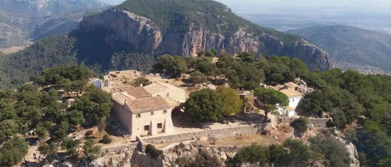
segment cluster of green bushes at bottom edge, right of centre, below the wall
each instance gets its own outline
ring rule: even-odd
[[[320,162],[325,167],[347,167],[350,158],[341,142],[333,138],[310,139],[310,146],[301,140],[287,139],[282,146],[251,145],[241,149],[230,162],[233,165],[250,163],[260,166],[314,166]]]

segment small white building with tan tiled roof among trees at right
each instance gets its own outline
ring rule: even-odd
[[[289,105],[287,107],[278,108],[278,111],[281,115],[285,115],[288,117],[296,115],[296,107],[300,104],[300,101],[303,98],[303,94],[297,91],[298,87],[299,86],[294,84],[293,82],[289,82],[284,85],[277,85],[274,87],[274,89],[282,92],[289,98]]]

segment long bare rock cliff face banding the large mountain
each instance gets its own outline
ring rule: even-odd
[[[106,33],[101,33],[102,29]],[[163,32],[148,18],[118,9],[85,17],[75,33],[101,36],[100,38],[113,51],[127,50],[155,56],[195,56],[201,50],[216,49],[226,50],[226,53],[232,55],[249,52],[255,55],[296,57],[305,62],[310,69],[326,70],[333,66],[328,53],[303,39],[284,44],[270,34],[255,36],[246,28],[240,28],[235,33],[224,36],[192,25],[187,31]]]

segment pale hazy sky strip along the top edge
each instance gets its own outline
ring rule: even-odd
[[[101,0],[117,5],[124,0]],[[235,12],[266,12],[281,9],[328,9],[365,12],[391,12],[391,0],[217,0]]]

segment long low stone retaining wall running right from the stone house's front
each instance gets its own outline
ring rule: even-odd
[[[255,125],[244,125],[244,126],[236,126],[229,128],[221,128],[221,129],[213,129],[213,130],[204,130],[197,132],[189,132],[189,133],[181,133],[176,135],[167,135],[161,137],[151,137],[144,139],[144,142],[157,144],[161,142],[168,141],[181,141],[181,140],[191,140],[193,138],[199,139],[200,137],[208,137],[208,138],[227,138],[234,137],[236,135],[248,135],[254,133],[261,133],[269,124],[255,124]]]

